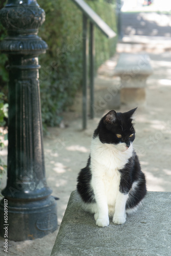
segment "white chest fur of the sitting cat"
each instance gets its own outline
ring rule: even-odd
[[[125,166],[131,156],[132,150],[127,153],[121,152],[115,148],[115,145],[101,143],[98,137],[92,140],[91,185],[97,191],[103,190],[108,206],[115,206],[121,178],[119,170]]]

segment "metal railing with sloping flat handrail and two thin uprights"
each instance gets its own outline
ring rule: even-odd
[[[90,20],[90,117],[94,118],[94,25],[108,38],[113,38],[116,33],[102,20],[97,13],[83,0],[72,0],[82,11],[83,26],[83,73],[82,73],[82,127],[87,128],[87,87],[88,87],[88,55],[89,55],[89,36],[88,36],[88,19]]]

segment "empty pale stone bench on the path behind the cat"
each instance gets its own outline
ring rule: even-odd
[[[120,77],[121,102],[145,103],[146,79],[153,73],[148,54],[121,53],[114,70]]]

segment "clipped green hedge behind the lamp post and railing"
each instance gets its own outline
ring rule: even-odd
[[[39,36],[47,42],[49,47],[46,54],[39,56],[42,123],[44,127],[55,126],[61,120],[62,111],[72,104],[76,91],[81,88],[82,13],[72,0],[37,2],[46,12],[46,21],[39,28]],[[116,32],[113,4],[115,1],[87,0],[86,2]],[[1,39],[5,35],[6,31],[2,29]],[[106,38],[98,29],[95,29],[96,69],[115,53],[116,40],[117,38]],[[7,83],[7,72],[4,69],[6,62],[7,57],[1,54],[0,89],[5,88]]]

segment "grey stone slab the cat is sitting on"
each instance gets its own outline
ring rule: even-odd
[[[171,250],[171,192],[148,192],[143,205],[126,222],[110,220],[96,226],[94,216],[80,208],[73,191],[51,256],[169,256]]]

